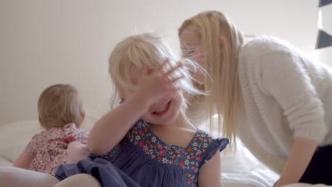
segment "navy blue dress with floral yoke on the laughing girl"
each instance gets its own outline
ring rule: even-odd
[[[198,186],[199,169],[228,145],[197,130],[187,147],[162,142],[143,120],[104,156],[90,155],[77,164],[62,164],[55,176],[91,174],[101,186]]]

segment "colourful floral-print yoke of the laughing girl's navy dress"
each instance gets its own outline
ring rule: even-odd
[[[155,162],[180,167],[187,176],[187,182],[190,186],[197,186],[200,166],[206,161],[206,154],[211,148],[210,146],[213,146],[213,142],[214,139],[211,135],[197,130],[187,147],[168,145],[150,130],[148,123],[140,120],[129,130],[126,137],[109,152],[108,157],[114,157],[122,145],[131,143],[140,147],[144,154]]]

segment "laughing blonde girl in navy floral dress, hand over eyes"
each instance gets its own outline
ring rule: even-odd
[[[150,33],[114,47],[109,72],[120,104],[92,128],[89,159],[62,164],[56,185],[78,186],[83,174],[94,186],[222,186],[220,152],[228,139],[198,130],[185,115],[184,96],[200,92],[189,74],[194,64],[177,62]]]

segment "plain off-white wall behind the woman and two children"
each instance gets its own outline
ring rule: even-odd
[[[311,54],[317,6],[317,0],[0,0],[0,124],[37,118],[40,92],[55,83],[77,86],[89,108],[108,108],[112,46],[155,30],[178,49],[177,28],[199,11],[223,11],[246,34],[275,35]]]

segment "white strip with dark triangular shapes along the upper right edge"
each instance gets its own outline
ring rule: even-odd
[[[319,60],[332,66],[332,0],[319,0],[319,34],[316,50]]]

